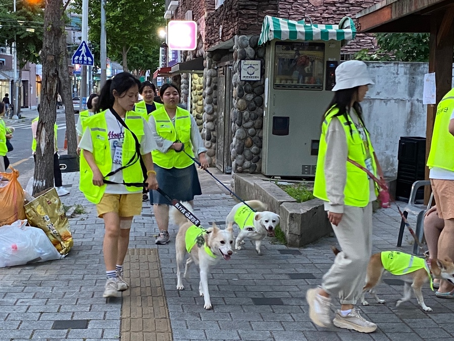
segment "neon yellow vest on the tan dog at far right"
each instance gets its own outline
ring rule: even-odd
[[[430,278],[430,288],[433,290],[432,276],[424,259],[398,251],[383,251],[381,263],[386,271],[396,276],[412,273],[421,268],[426,269]]]

